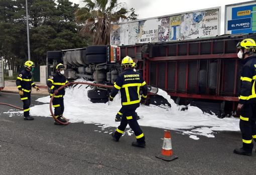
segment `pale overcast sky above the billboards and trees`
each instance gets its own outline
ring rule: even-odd
[[[70,0],[73,3],[84,6],[82,0]],[[221,7],[221,28],[220,34],[224,34],[224,11],[225,5],[248,2],[248,0],[119,0],[119,3],[125,3],[127,9],[135,8],[138,19],[158,17],[183,13],[188,11]]]

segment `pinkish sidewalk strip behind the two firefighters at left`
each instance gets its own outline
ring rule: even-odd
[[[35,88],[32,88],[32,95],[38,95],[38,96],[47,96],[49,95],[48,88],[46,84],[40,84],[40,82],[34,82],[40,89],[40,91],[37,91]],[[2,92],[8,92],[8,93],[16,93],[18,94],[18,88],[16,86],[16,80],[5,80],[5,88],[2,90]]]

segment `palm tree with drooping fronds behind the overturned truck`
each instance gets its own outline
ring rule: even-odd
[[[107,45],[112,24],[127,19],[127,10],[117,0],[84,0],[85,7],[76,11],[76,21],[83,24],[82,35],[92,35],[94,45]]]

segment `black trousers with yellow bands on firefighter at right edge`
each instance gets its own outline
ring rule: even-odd
[[[253,148],[252,139],[256,141],[256,104],[244,104],[240,114],[240,131],[242,134],[242,147],[251,152]]]

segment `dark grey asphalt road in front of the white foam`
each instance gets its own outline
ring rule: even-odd
[[[32,96],[33,105],[37,98]],[[1,93],[0,102],[22,106],[16,94]],[[232,153],[241,145],[239,132],[194,140],[172,131],[179,158],[167,162],[155,157],[161,151],[163,129],[142,127],[147,147],[137,148],[131,145],[134,135],[114,142],[110,134],[95,132],[100,128],[94,124],[56,126],[49,117],[24,121],[21,115],[4,113],[9,109],[0,105],[0,174],[256,174],[255,152]]]

